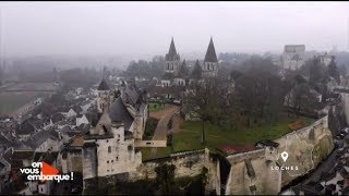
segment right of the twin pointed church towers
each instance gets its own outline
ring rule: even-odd
[[[202,71],[203,77],[216,77],[218,75],[218,59],[212,37],[202,65]]]

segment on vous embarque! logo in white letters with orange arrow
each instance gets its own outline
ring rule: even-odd
[[[21,173],[27,174],[28,181],[41,181],[41,183],[47,180],[55,180],[58,183],[60,181],[69,181],[73,180],[73,172],[71,174],[59,174],[59,170],[46,163],[41,162],[33,162],[32,168],[20,169]]]

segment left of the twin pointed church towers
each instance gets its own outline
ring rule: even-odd
[[[170,49],[168,50],[168,53],[165,56],[165,60],[166,60],[165,72],[177,75],[180,69],[180,57],[176,51],[173,37],[170,44]]]

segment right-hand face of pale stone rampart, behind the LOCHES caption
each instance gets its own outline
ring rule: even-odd
[[[279,152],[289,154],[288,164],[299,167],[297,172],[282,172],[281,185],[284,186],[316,168],[334,149],[333,135],[328,128],[328,115],[275,142],[280,144]],[[278,162],[282,163],[282,160],[279,158]]]

